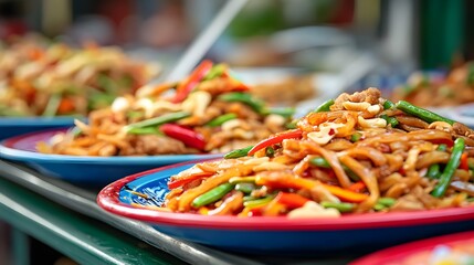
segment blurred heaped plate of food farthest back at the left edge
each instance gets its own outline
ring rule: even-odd
[[[73,47],[25,36],[0,49],[0,137],[72,126],[74,117],[133,94],[157,76],[158,64],[114,46]]]

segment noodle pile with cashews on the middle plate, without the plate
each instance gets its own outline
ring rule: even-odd
[[[38,150],[106,157],[227,152],[284,130],[293,112],[267,107],[227,65],[204,61],[181,82],[116,98],[92,112],[88,124],[76,120],[73,130]]]

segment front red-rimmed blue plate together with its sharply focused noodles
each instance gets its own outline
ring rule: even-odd
[[[118,180],[97,202],[231,251],[376,250],[474,229],[473,137],[463,124],[368,88],[223,159]]]

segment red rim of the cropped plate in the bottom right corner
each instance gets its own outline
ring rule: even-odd
[[[350,265],[371,265],[381,263],[394,263],[400,258],[422,251],[431,251],[436,245],[453,245],[474,239],[474,231],[435,236],[426,240],[414,241],[382,251],[375,252],[350,263]]]

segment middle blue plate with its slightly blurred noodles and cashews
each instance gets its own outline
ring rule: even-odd
[[[70,129],[7,138],[0,156],[54,177],[105,184],[254,145],[295,126],[293,113],[259,99],[227,65],[203,61],[182,81],[117,97]]]

